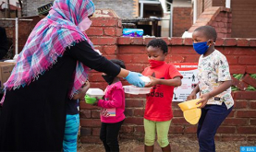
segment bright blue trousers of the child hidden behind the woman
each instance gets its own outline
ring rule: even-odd
[[[77,152],[77,140],[79,134],[79,114],[67,114],[65,135],[63,140],[64,152]]]

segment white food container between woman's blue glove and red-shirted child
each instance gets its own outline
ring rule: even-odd
[[[128,94],[139,95],[139,94],[148,94],[151,92],[151,88],[137,88],[136,86],[123,86],[124,90]]]

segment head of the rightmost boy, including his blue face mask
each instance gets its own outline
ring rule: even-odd
[[[202,26],[195,29],[192,34],[194,50],[199,54],[206,53],[217,39],[216,30],[211,26]],[[214,48],[211,47],[213,50]]]

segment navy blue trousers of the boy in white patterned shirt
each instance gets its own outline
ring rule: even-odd
[[[201,109],[197,131],[200,152],[215,152],[214,135],[232,109],[227,110],[224,102],[221,106],[206,105]]]

